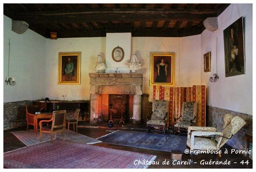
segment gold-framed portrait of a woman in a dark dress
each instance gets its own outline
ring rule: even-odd
[[[175,86],[175,53],[150,52],[150,85]]]

